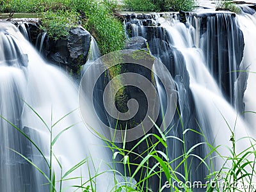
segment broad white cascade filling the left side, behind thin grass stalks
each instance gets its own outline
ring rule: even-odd
[[[28,134],[49,161],[50,133],[45,124],[51,129],[54,122],[78,108],[77,87],[61,70],[45,63],[15,26],[0,22],[0,30],[1,115]],[[45,124],[21,99],[28,102],[45,120]],[[0,119],[0,124],[1,191],[48,191],[49,185],[45,185],[47,180],[42,174],[12,150],[26,156],[49,175],[49,168],[42,155],[3,118]],[[63,181],[62,188],[81,184],[89,177],[88,168],[92,168],[90,172],[93,175],[93,166],[97,169],[102,159],[109,161],[107,150],[100,147],[102,143],[99,138],[93,136],[81,123],[78,110],[52,127],[52,138],[73,124],[76,125],[63,132],[52,147],[54,156],[62,166],[61,171],[59,164],[53,161],[52,171],[56,173],[58,180],[61,174],[84,158],[88,157],[88,164],[68,175],[69,178],[82,175],[82,180]],[[90,157],[93,159],[93,166]],[[100,170],[104,170],[104,163]],[[97,191],[106,191],[111,184],[109,180],[99,177]],[[56,188],[60,188],[60,185],[57,184]]]

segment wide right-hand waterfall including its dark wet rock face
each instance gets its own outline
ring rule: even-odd
[[[243,17],[239,17],[239,23]],[[146,22],[155,23],[159,27]],[[243,23],[245,26],[245,22]],[[243,86],[246,84],[246,77],[239,70],[244,46],[242,31],[245,29],[241,27],[241,31],[234,13],[198,12],[186,14],[186,17],[181,13],[152,13],[146,16],[135,14],[125,17],[125,26],[127,36],[143,36],[147,39],[150,52],[163,61],[172,74],[177,86],[178,107],[184,129],[203,131],[209,143],[214,146],[221,145],[218,150],[223,156],[229,154],[226,147],[232,148],[232,131],[236,140],[253,136],[241,116],[244,111]],[[253,29],[246,30],[253,33]],[[246,42],[246,35],[244,38]],[[250,50],[254,49],[250,47]],[[244,102],[249,97],[249,92],[250,97],[253,97],[253,91],[247,88]],[[252,106],[247,105],[246,109],[251,111]],[[169,134],[182,138],[184,130],[179,123],[179,116],[176,116],[173,122],[175,126]],[[187,148],[202,141],[202,136],[186,134]],[[237,152],[250,146],[249,140],[240,143],[236,148]],[[168,147],[170,158],[175,159],[182,155],[182,145],[179,141],[169,141]],[[205,157],[208,153],[206,146],[194,150],[194,154],[200,157]],[[206,170],[203,166],[196,168],[200,161],[189,159],[189,162],[192,162],[191,180],[204,180]],[[177,164],[179,161],[175,161],[172,166],[176,167]],[[216,159],[215,164],[218,170],[223,161]],[[184,172],[182,168],[177,171]]]

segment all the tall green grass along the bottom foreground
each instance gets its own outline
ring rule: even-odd
[[[194,191],[194,188],[204,188],[205,191],[208,191],[208,192],[210,192],[210,191],[244,191],[244,189],[236,188],[236,186],[234,186],[234,183],[241,183],[241,184],[244,184],[247,186],[254,185],[256,187],[255,183],[253,183],[255,180],[255,177],[256,177],[256,169],[255,169],[256,140],[255,139],[242,138],[241,140],[250,140],[251,145],[248,146],[248,148],[246,148],[243,152],[240,152],[239,154],[237,154],[236,153],[236,142],[237,141],[234,136],[234,132],[232,132],[231,127],[229,127],[230,135],[232,138],[232,140],[230,140],[230,142],[232,142],[232,148],[229,148],[230,154],[221,156],[220,153],[218,152],[218,148],[220,146],[214,147],[210,143],[208,143],[204,133],[202,133],[202,132],[198,132],[193,129],[184,129],[184,127],[182,127],[182,129],[183,129],[182,135],[183,136],[182,136],[182,138],[178,138],[176,136],[168,135],[168,131],[165,133],[161,132],[161,130],[159,129],[159,127],[157,127],[156,124],[155,124],[155,126],[156,126],[156,129],[159,131],[159,134],[146,134],[145,136],[143,136],[143,138],[141,138],[140,141],[138,141],[138,143],[134,143],[134,147],[132,147],[131,150],[125,149],[126,143],[123,143],[122,147],[118,147],[117,145],[115,145],[115,143],[113,143],[111,141],[106,141],[106,147],[110,148],[111,151],[113,152],[113,162],[112,162],[113,166],[108,164],[109,170],[107,170],[106,172],[99,172],[99,168],[94,168],[94,170],[90,170],[90,168],[88,166],[88,162],[89,161],[93,162],[93,159],[90,159],[90,157],[88,157],[88,158],[84,159],[83,161],[74,165],[66,173],[61,172],[60,180],[56,180],[55,173],[53,171],[54,168],[52,167],[52,161],[54,161],[54,160],[57,161],[61,170],[62,170],[62,166],[61,166],[60,161],[58,161],[58,158],[54,155],[54,151],[52,151],[52,147],[54,146],[56,141],[60,139],[61,134],[63,134],[63,132],[67,131],[68,129],[72,129],[72,127],[74,125],[67,126],[67,128],[63,129],[63,131],[61,131],[59,134],[57,134],[57,136],[55,138],[52,138],[52,128],[54,126],[56,126],[59,122],[61,122],[61,120],[66,118],[68,115],[70,115],[70,113],[72,113],[73,111],[71,111],[67,115],[63,116],[62,118],[60,118],[60,120],[58,120],[57,122],[55,122],[55,123],[52,122],[51,126],[49,126],[45,123],[45,121],[42,119],[42,117],[40,115],[38,115],[38,113],[36,113],[36,111],[33,108],[31,108],[30,106],[29,106],[29,108],[38,116],[38,118],[40,118],[40,120],[42,120],[42,122],[44,123],[46,129],[49,131],[49,134],[51,136],[51,145],[50,145],[51,147],[49,148],[49,154],[50,154],[49,159],[47,159],[47,157],[44,156],[44,154],[42,153],[40,148],[35,144],[35,142],[33,140],[31,140],[28,135],[26,135],[24,132],[22,132],[22,130],[19,127],[16,127],[14,124],[12,124],[12,122],[9,122],[3,116],[0,116],[0,117],[3,118],[3,120],[6,120],[10,125],[12,125],[14,129],[17,129],[17,131],[19,131],[20,134],[22,134],[26,139],[28,139],[31,142],[31,145],[33,145],[38,150],[38,152],[40,152],[45,163],[47,164],[47,166],[49,168],[49,172],[47,172],[47,173],[42,172],[42,170],[40,170],[40,168],[38,168],[38,166],[36,164],[34,164],[33,161],[29,160],[23,154],[20,154],[19,152],[12,150],[13,152],[19,154],[24,159],[26,159],[26,161],[28,161],[28,163],[31,163],[36,168],[36,170],[38,170],[38,172],[40,172],[40,173],[42,173],[42,175],[44,175],[44,177],[49,182],[48,183],[49,189],[52,192],[57,191],[57,189],[56,189],[57,185],[60,186],[60,191],[63,191],[63,189],[61,188],[61,183],[64,180],[67,180],[67,179],[72,180],[72,179],[77,179],[77,178],[81,178],[81,180],[83,180],[84,175],[79,175],[76,178],[68,178],[68,175],[70,175],[70,173],[74,172],[74,170],[77,170],[77,168],[82,168],[82,166],[86,165],[86,164],[87,164],[87,169],[88,169],[88,174],[89,174],[86,176],[88,176],[90,179],[86,180],[85,182],[81,182],[81,185],[79,185],[79,186],[70,187],[70,188],[74,189],[74,191],[77,191],[77,189],[82,189],[82,191],[84,191],[84,192],[96,191],[97,177],[99,177],[99,175],[102,175],[106,172],[111,172],[111,173],[113,173],[114,176],[121,175],[121,177],[124,178],[124,182],[120,182],[120,181],[118,182],[118,179],[115,179],[115,186],[113,187],[113,189],[111,189],[111,191],[118,191],[118,192],[122,191],[122,190],[124,190],[124,191],[145,191],[146,189],[147,189],[146,191],[151,191],[150,183],[149,183],[149,180],[151,177],[159,178],[160,185],[159,185],[158,191],[163,191],[165,188],[169,188],[170,191],[180,191],[180,190],[181,191]],[[181,119],[180,119],[180,123],[182,124]],[[170,129],[172,129],[172,127]],[[234,129],[235,129],[235,127],[234,127]],[[200,134],[200,136],[205,138],[205,141],[202,143],[196,143],[192,147],[187,148],[185,138],[186,138],[186,134],[188,134],[188,132],[195,132],[196,134]],[[102,139],[105,139],[105,138],[102,137]],[[154,139],[155,141],[152,142],[152,139]],[[169,157],[168,150],[170,150],[170,149],[168,146],[168,140],[177,140],[180,143],[182,143],[183,152],[182,152],[181,156],[177,157],[176,159],[171,159]],[[146,142],[148,148],[142,154],[137,154],[135,152],[135,148],[138,147],[142,142]],[[158,149],[159,145],[163,146],[164,150],[159,150]],[[205,157],[200,157],[193,153],[196,148],[198,148],[202,145],[204,145],[205,148],[209,148],[209,154],[207,154]],[[131,159],[130,159],[131,155],[137,156],[138,158],[140,158],[141,159],[140,163],[138,163],[138,164],[132,163]],[[209,171],[209,175],[207,175],[207,177],[206,177],[206,179],[208,181],[207,185],[204,185],[204,184],[202,184],[201,186],[200,186],[200,184],[199,185],[196,184],[196,186],[188,185],[190,176],[191,176],[191,174],[193,175],[193,173],[191,173],[191,161],[188,161],[188,159],[190,157],[199,159],[201,162],[200,164],[203,164],[205,166],[205,168]],[[225,162],[225,163],[223,163],[222,168],[218,171],[214,170],[214,164],[212,164],[212,162],[213,162],[212,160],[216,157],[223,159]],[[206,161],[207,158],[209,158],[211,160],[211,161],[209,161],[210,163],[207,163],[207,161]],[[117,161],[116,159],[120,159],[120,160]],[[152,161],[152,159],[156,160],[156,164],[154,164],[154,166],[149,166],[150,161]],[[173,167],[172,164],[175,161],[179,161],[179,164],[178,164],[178,166]],[[115,167],[118,164],[121,164],[122,166],[124,166],[124,175],[122,175],[122,173],[115,170]],[[228,164],[232,164],[232,166],[230,167],[230,166],[228,166]],[[136,167],[134,172],[131,172],[131,166]],[[182,173],[177,172],[179,167],[182,167],[184,172],[182,172]],[[84,168],[84,166],[83,166],[83,168]],[[94,172],[95,174],[92,175],[91,174],[92,172]],[[132,179],[135,178],[135,175],[137,173],[141,174],[140,180],[137,180],[136,184],[132,184]],[[222,175],[221,179],[223,180],[223,182],[225,182],[225,186],[220,186],[218,184],[218,175]],[[165,178],[164,181],[168,180],[170,182],[168,182],[168,184],[163,185],[164,181],[161,180],[163,178]],[[182,179],[180,179],[180,178],[182,178]],[[176,184],[173,185],[174,181],[176,182]],[[161,182],[162,182],[162,184],[161,184]],[[179,186],[182,186],[182,187],[179,188],[179,186],[177,186],[178,183],[179,183]],[[246,189],[246,191],[255,191],[255,188],[254,189],[253,188]]]

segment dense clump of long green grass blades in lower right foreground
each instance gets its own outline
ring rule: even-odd
[[[156,124],[154,124],[157,131],[159,131],[159,134],[146,134],[143,136],[143,138],[141,138],[140,141],[135,143],[131,150],[125,149],[125,142],[123,143],[122,147],[118,147],[113,141],[106,141],[108,148],[110,148],[113,152],[113,161],[115,164],[122,164],[122,166],[124,166],[123,177],[129,177],[130,179],[125,182],[125,185],[122,186],[124,191],[125,189],[129,189],[127,186],[132,186],[131,180],[134,179],[138,173],[140,173],[140,180],[137,180],[136,186],[134,186],[134,189],[137,191],[145,191],[145,189],[147,189],[146,191],[152,191],[152,189],[150,189],[150,179],[152,180],[152,177],[158,177],[160,181],[158,191],[166,191],[166,188],[170,188],[170,191],[192,192],[196,191],[197,189],[204,189],[207,192],[229,192],[244,191],[243,189],[245,189],[246,186],[250,186],[250,188],[247,188],[249,191],[255,190],[255,139],[241,138],[240,140],[249,139],[251,145],[244,149],[243,152],[239,152],[237,154],[236,143],[239,140],[236,140],[234,135],[234,130],[236,127],[231,129],[231,127],[229,127],[227,124],[228,128],[230,129],[230,141],[232,142],[232,148],[229,148],[230,154],[224,154],[223,156],[218,152],[218,148],[221,146],[214,147],[211,143],[209,143],[199,124],[198,127],[200,132],[195,131],[195,129],[185,129],[185,127],[183,127],[181,117],[180,124],[182,125],[183,130],[181,138],[168,135],[168,132],[171,131],[172,127],[170,127],[168,131],[162,132],[161,129],[157,127]],[[199,134],[202,136],[202,138],[204,138],[204,141],[201,143],[195,143],[195,145],[188,148],[186,145],[186,134],[188,134],[188,132]],[[123,137],[125,138],[125,136]],[[102,137],[102,139],[106,140],[104,137]],[[169,140],[176,140],[183,145],[182,154],[175,159],[171,159],[168,154],[168,151],[170,150],[170,146],[168,146]],[[139,147],[142,142],[147,143],[147,150],[138,154],[135,151],[135,148]],[[159,145],[163,146],[164,150],[159,150]],[[206,154],[205,157],[200,157],[194,152],[196,148],[200,146],[204,146],[205,148],[209,149],[209,153]],[[135,156],[136,159],[141,159],[140,163],[132,163],[130,159],[131,156]],[[214,159],[216,158],[221,158],[225,161],[225,163],[222,165],[222,168],[218,171],[216,171],[214,168]],[[120,160],[115,161],[116,159]],[[156,162],[153,165],[152,159],[154,159]],[[204,165],[205,170],[208,171],[208,175],[205,175],[205,182],[191,182],[191,178],[193,178],[194,175],[191,170],[193,159],[199,159],[200,164]],[[210,159],[210,161],[207,161],[207,159]],[[173,163],[176,161],[178,162],[178,165],[173,167]],[[232,165],[231,167],[230,164]],[[131,172],[132,166],[135,166],[134,172]],[[178,172],[179,168],[181,168],[183,171]],[[239,184],[242,184],[242,186],[239,186]]]

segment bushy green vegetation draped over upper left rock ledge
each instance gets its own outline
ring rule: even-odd
[[[42,13],[42,28],[55,40],[81,24],[95,37],[102,54],[124,46],[123,24],[113,14],[115,0],[2,0],[0,5],[5,13]]]

